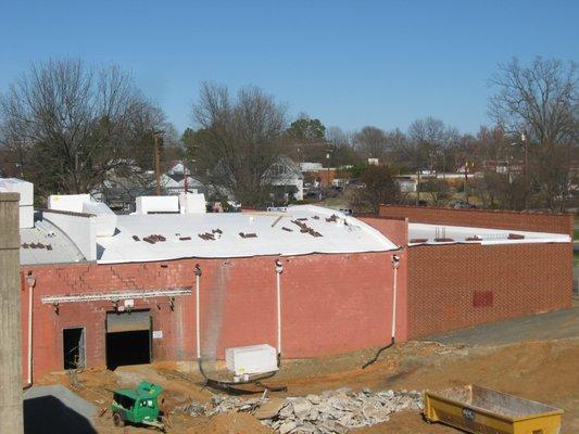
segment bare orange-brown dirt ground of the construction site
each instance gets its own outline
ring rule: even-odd
[[[276,396],[305,396],[349,386],[381,390],[442,390],[477,384],[545,403],[565,410],[562,433],[579,432],[579,306],[559,312],[481,326],[423,341],[397,344],[367,369],[361,366],[374,349],[312,360],[285,361],[268,381],[286,385]],[[204,388],[194,363],[159,362],[117,368],[114,372],[89,369],[74,375],[52,373],[39,384],[63,384],[98,409],[92,424],[98,433],[150,433],[151,429],[114,427],[110,412],[112,394],[118,387],[141,380],[164,387],[164,407],[171,412],[169,433],[269,433],[249,413],[226,413],[212,418],[175,411],[191,400],[207,401],[214,391]],[[53,431],[60,432],[60,431]],[[391,420],[350,433],[457,433],[427,424],[418,412],[400,412]]]

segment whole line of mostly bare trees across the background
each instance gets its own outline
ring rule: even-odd
[[[298,163],[356,168],[369,195],[362,201],[373,209],[378,201],[402,199],[393,183],[401,174],[418,178],[413,201],[438,204],[448,184],[431,174],[457,168],[482,174],[471,180],[469,193],[483,206],[565,209],[577,184],[575,64],[513,59],[499,65],[490,84],[490,125],[461,133],[432,117],[405,130],[326,128],[305,114],[290,119],[287,106],[257,87],[231,93],[204,82],[191,111],[196,128],[179,137],[118,66],[51,60],[33,65],[0,95],[0,145],[40,196],[90,192],[119,174],[150,182],[156,140],[165,161],[185,159],[196,177],[248,205],[267,202],[272,166],[287,155]],[[378,161],[378,168],[370,169],[368,158]]]

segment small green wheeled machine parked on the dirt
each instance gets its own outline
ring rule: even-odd
[[[160,385],[142,381],[137,388],[119,388],[113,392],[111,412],[115,426],[135,423],[164,430],[156,398],[163,391]]]

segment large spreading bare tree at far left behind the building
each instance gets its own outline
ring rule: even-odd
[[[149,104],[116,66],[35,64],[0,100],[2,144],[38,191],[89,192],[130,155],[135,117]]]

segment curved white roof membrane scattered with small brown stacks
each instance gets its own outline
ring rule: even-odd
[[[302,232],[292,220],[305,225],[311,231]],[[117,216],[116,229],[113,237],[97,240],[98,263],[363,253],[398,248],[379,231],[353,217],[307,205],[270,213]],[[154,235],[161,235],[164,241]]]

